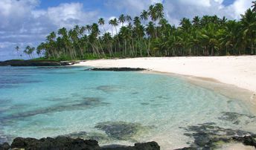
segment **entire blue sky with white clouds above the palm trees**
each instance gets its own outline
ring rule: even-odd
[[[36,47],[60,27],[89,25],[102,17],[109,21],[121,13],[139,16],[150,4],[164,5],[166,19],[179,25],[183,17],[217,15],[240,19],[253,0],[0,0],[0,61],[28,59],[22,50]],[[106,25],[110,31],[111,26]],[[20,52],[15,47],[19,46]]]

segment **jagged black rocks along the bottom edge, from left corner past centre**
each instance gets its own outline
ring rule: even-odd
[[[8,149],[29,149],[29,150],[159,150],[160,146],[156,142],[135,143],[134,146],[104,146],[100,147],[97,140],[83,140],[70,137],[34,138],[16,137],[11,146],[8,143],[0,145],[0,150]]]

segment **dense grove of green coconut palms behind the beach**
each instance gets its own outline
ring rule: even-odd
[[[112,25],[106,32],[105,25]],[[118,31],[118,27],[120,30]],[[19,50],[17,47],[16,50]],[[24,50],[45,59],[97,59],[138,56],[228,56],[256,54],[256,1],[240,20],[218,16],[183,18],[178,27],[164,19],[158,3],[132,18],[121,14],[106,22],[51,32],[37,48]]]

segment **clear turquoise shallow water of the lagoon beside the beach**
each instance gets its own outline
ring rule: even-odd
[[[193,143],[191,126],[256,132],[243,101],[164,74],[0,68],[0,143],[13,137],[95,138],[100,145]],[[210,124],[211,125],[211,124]]]

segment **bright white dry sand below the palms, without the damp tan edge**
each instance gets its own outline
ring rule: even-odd
[[[76,66],[147,68],[217,81],[256,92],[256,56],[149,57],[99,59]]]

